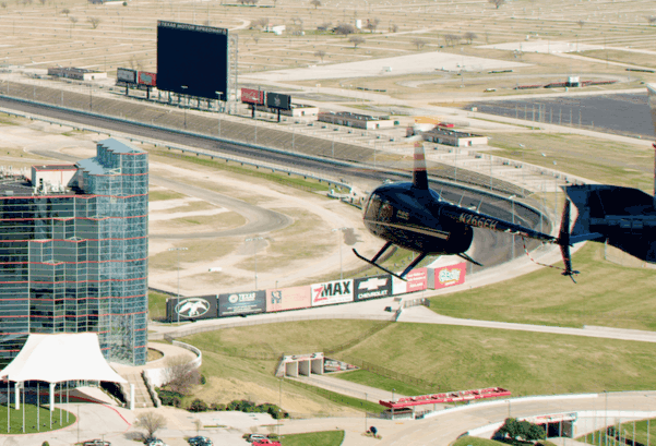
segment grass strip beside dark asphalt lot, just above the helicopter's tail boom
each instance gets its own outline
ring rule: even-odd
[[[654,154],[646,145],[553,133],[494,133],[489,144],[501,148],[494,150],[498,156],[605,184],[654,190]]]

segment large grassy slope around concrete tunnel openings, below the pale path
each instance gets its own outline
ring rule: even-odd
[[[372,323],[336,320],[270,324],[265,329],[230,328],[183,340],[203,350],[206,376],[238,377],[272,391],[279,385],[273,377],[277,361],[248,361],[229,354],[241,349],[271,355],[322,351],[322,345],[334,348],[356,337],[358,343],[332,357],[358,358],[437,383],[439,387],[431,391],[501,386],[513,396],[523,396],[656,386],[656,376],[651,373],[656,366],[656,346],[648,342],[406,323],[389,324],[365,337],[362,325]],[[242,365],[228,365],[231,363]],[[386,379],[371,383],[385,389],[404,388]],[[294,386],[285,383],[284,387]],[[410,390],[406,391],[425,393],[421,388]]]

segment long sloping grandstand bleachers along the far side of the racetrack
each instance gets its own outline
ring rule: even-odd
[[[349,162],[373,164],[374,149],[367,145],[345,142],[357,142],[358,138],[350,138],[349,135],[344,133],[326,131],[321,136],[314,133],[308,135],[306,132],[301,132],[300,129],[293,129],[290,125],[281,125],[265,121],[255,122],[226,114],[217,117],[214,112],[184,109],[184,104],[176,107],[178,104],[172,103],[171,106],[163,108],[151,105],[147,101],[124,98],[118,93],[102,91],[102,95],[99,95],[97,91],[93,91],[91,87],[88,92],[80,92],[70,89],[68,85],[62,86],[65,89],[51,88],[36,83],[10,82],[8,86],[0,86],[0,94],[4,95],[8,87],[9,96],[12,97],[55,106],[63,105],[65,108],[92,111],[94,113],[133,120],[167,129],[186,130],[214,137],[218,135],[220,126],[220,136],[228,140],[266,145],[288,152],[334,158]],[[381,150],[377,150],[377,166],[382,166],[382,154]],[[397,161],[404,159],[401,155],[386,152],[384,154],[386,158],[396,157]],[[394,164],[396,165],[397,161]],[[491,184],[492,190],[506,195],[524,196],[526,193],[523,188],[511,182],[498,178],[493,178],[490,182],[489,176],[462,168],[458,168],[456,172],[453,166],[441,162],[429,161],[428,169],[429,174],[433,177],[488,190]]]

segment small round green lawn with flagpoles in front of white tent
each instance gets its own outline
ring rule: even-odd
[[[24,405],[25,407],[25,434],[34,434],[36,432],[56,431],[75,423],[75,415],[72,412],[61,411],[61,425],[59,424],[59,409],[52,412],[52,429],[50,429],[50,411],[47,406],[41,406],[38,411],[37,424],[37,408],[34,405]],[[20,410],[10,409],[10,434],[23,434],[23,405]],[[67,421],[68,415],[68,421]],[[7,406],[0,407],[0,435],[7,434]]]

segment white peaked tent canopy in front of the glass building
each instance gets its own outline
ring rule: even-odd
[[[95,333],[31,334],[19,355],[0,377],[21,383],[43,381],[107,381],[127,383],[107,363]]]

